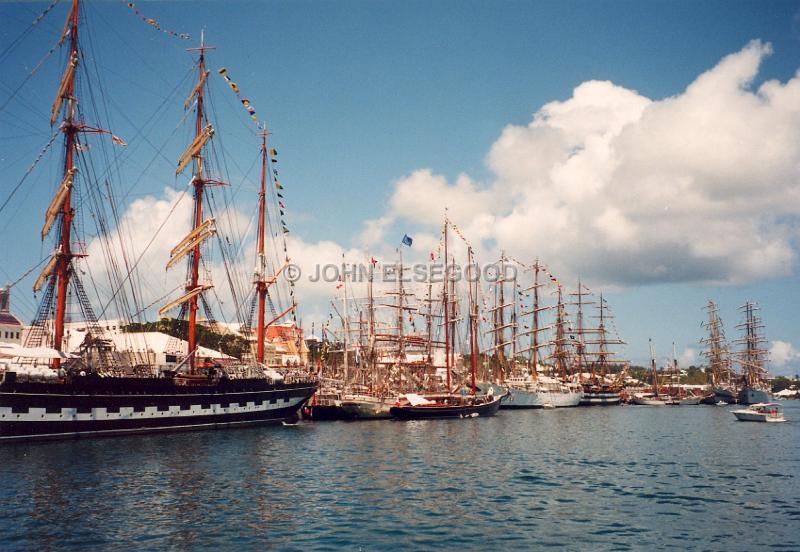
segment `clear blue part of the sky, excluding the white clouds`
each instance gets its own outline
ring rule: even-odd
[[[0,105],[57,39],[66,4],[0,57]],[[46,5],[0,4],[6,22],[0,51]],[[414,171],[429,169],[448,183],[466,174],[478,189],[490,189],[495,175],[487,158],[503,129],[528,125],[533,113],[568,100],[581,83],[608,80],[662,100],[683,93],[754,39],[770,43],[773,52],[761,62],[753,87],[770,79],[785,82],[800,66],[797,2],[138,2],[137,7],[164,28],[193,38],[187,43],[153,30],[123,2],[85,6],[84,36],[91,43],[84,47],[91,44],[89,53],[102,72],[114,132],[130,143],[120,169],[123,188],[132,190],[129,198],[161,196],[165,187],[179,186],[173,163],[188,135],[184,129],[170,134],[190,89],[191,57],[184,49],[194,46],[205,28],[207,41],[217,46],[209,54],[210,67],[228,68],[275,133],[293,236],[343,248],[360,247],[365,221],[384,215],[395,183]],[[60,59],[63,54],[54,55],[0,112],[3,199],[49,137],[46,113]],[[220,82],[215,86],[224,116],[218,129],[242,167],[233,172],[245,172],[257,154],[250,152],[252,129],[229,91]],[[162,104],[157,120],[146,122]],[[137,128],[158,147],[137,140]],[[161,144],[166,146],[157,153]],[[37,169],[17,198],[25,201],[13,215],[2,214],[0,232],[25,234],[3,240],[2,279],[16,280],[47,250],[37,237],[38,221],[56,165],[50,159],[47,168]],[[793,226],[795,216],[787,217]],[[401,217],[387,234],[394,239],[397,233],[430,231]],[[502,244],[489,240],[486,246]],[[572,268],[592,279],[591,265]],[[720,303],[729,334],[739,321],[735,307],[752,299],[761,303],[768,338],[800,347],[795,274],[793,264],[777,279],[760,275],[726,285],[691,277],[624,286],[596,280],[612,290],[609,299],[630,357],[644,362],[649,336],[663,353],[673,340],[679,353],[699,349],[701,307],[709,298]],[[15,296],[23,316],[32,314],[29,289],[26,281]],[[790,362],[781,370],[797,368]]]

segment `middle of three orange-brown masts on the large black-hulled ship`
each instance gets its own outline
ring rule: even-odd
[[[203,135],[203,90],[205,88],[205,51],[213,49],[213,47],[205,46],[204,34],[200,33],[200,47],[187,48],[187,52],[200,52],[200,61],[198,63],[198,81],[197,81],[197,119],[195,122],[195,140],[200,140]],[[205,190],[205,180],[203,179],[203,153],[202,148],[198,148],[197,152],[192,155],[194,158],[194,174],[192,175],[192,186],[194,187],[194,218],[192,221],[192,230],[197,229],[203,224],[203,191]],[[200,242],[195,244],[192,251],[190,266],[189,266],[189,282],[186,285],[186,291],[191,292],[197,289],[200,280]],[[195,374],[197,372],[197,358],[195,349],[197,348],[197,295],[189,299],[189,330],[187,341],[189,343],[189,373]]]

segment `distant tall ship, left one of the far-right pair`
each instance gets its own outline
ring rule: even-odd
[[[708,320],[703,325],[708,336],[702,339],[701,343],[705,347],[703,356],[706,357],[708,363],[707,372],[711,379],[711,394],[704,399],[704,402],[735,404],[739,401],[737,377],[731,366],[731,354],[717,304],[709,300],[706,311]]]

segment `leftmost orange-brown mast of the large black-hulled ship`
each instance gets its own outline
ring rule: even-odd
[[[69,43],[70,54],[67,63],[75,67],[78,63],[78,0],[72,0],[72,12],[70,13],[68,24],[70,25]],[[62,84],[63,86],[63,84]],[[63,132],[66,137],[64,140],[64,179],[74,172],[75,160],[75,134],[78,127],[75,124],[75,71],[68,71],[68,81],[64,97],[67,99],[66,116],[63,125]],[[58,101],[58,99],[56,100]],[[62,340],[64,339],[64,315],[67,310],[67,284],[69,283],[69,273],[72,265],[71,250],[71,230],[74,212],[72,210],[72,188],[68,187],[64,204],[61,208],[61,233],[59,236],[59,247],[56,252],[57,260],[55,267],[55,277],[57,279],[56,288],[56,312],[53,331],[53,348],[56,351],[62,350]],[[61,366],[61,359],[53,359],[53,369],[58,370]]]

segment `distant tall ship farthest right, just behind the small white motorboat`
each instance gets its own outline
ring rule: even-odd
[[[741,348],[734,354],[734,360],[741,367],[739,403],[768,403],[772,400],[772,393],[765,368],[768,352],[761,333],[764,325],[755,303],[748,301],[739,309],[744,313],[744,321],[737,326],[743,333],[742,338],[736,341]]]

